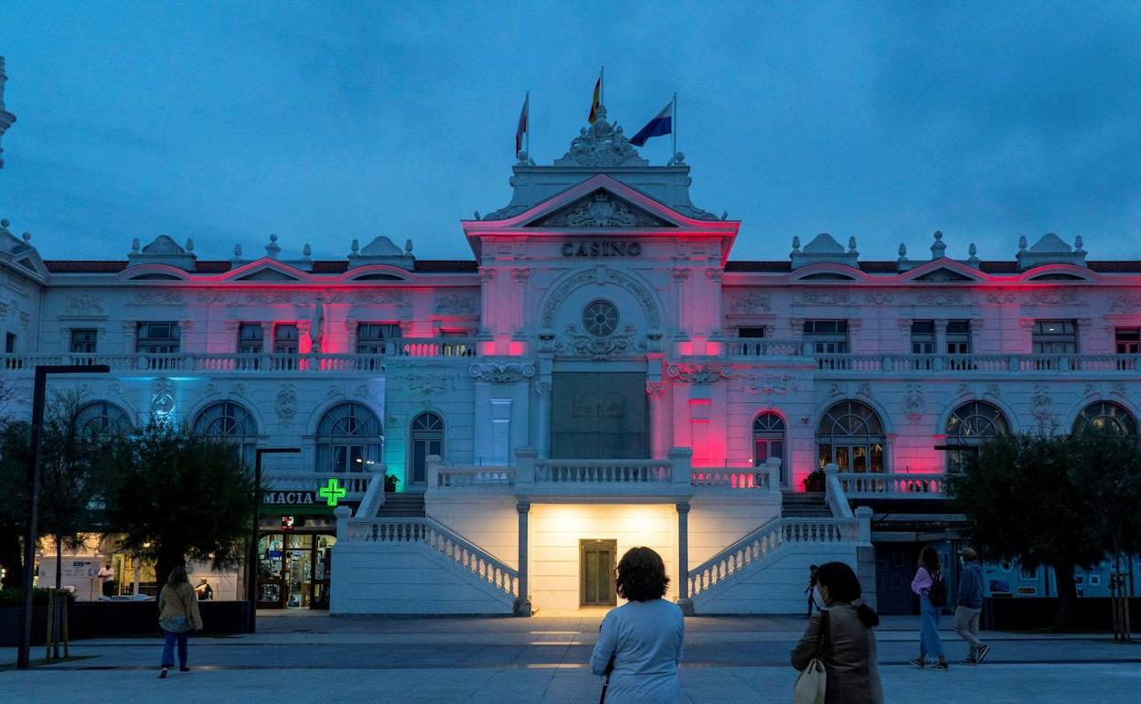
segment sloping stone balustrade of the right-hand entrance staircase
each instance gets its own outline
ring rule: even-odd
[[[689,571],[689,594],[729,581],[742,569],[768,558],[791,543],[861,543],[871,540],[871,513],[859,518],[774,518],[739,541]]]

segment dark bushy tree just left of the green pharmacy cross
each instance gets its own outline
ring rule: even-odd
[[[112,444],[105,480],[108,532],[156,563],[159,589],[187,559],[220,569],[244,557],[253,476],[237,447],[155,421]]]

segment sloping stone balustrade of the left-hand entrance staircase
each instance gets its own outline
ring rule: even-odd
[[[347,543],[421,543],[439,552],[484,582],[518,597],[519,572],[431,518],[357,519],[348,510],[337,513],[337,541]]]

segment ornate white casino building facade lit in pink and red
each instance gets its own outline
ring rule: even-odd
[[[167,235],[42,259],[5,221],[8,411],[27,413],[34,365],[90,359],[112,374],[52,385],[81,389],[92,428],[300,448],[266,458],[259,594],[341,614],[614,604],[636,544],[691,613],[800,612],[831,559],[909,613],[921,544],[954,569],[944,478],[965,453],[1138,431],[1141,261],[1053,234],[984,261],[940,233],[896,260],[827,234],[735,260],[739,222],[690,202],[683,156],[649,164],[605,111],[512,170],[509,204],[460,222],[458,261],[385,236],[338,260],[274,236],[204,259]],[[994,594],[1051,589],[989,568]]]

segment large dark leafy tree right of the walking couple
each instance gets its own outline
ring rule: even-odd
[[[1106,556],[1089,533],[1092,517],[1081,461],[1067,436],[998,436],[949,479],[966,516],[968,537],[981,557],[1053,568],[1059,598],[1054,625],[1068,624],[1075,615],[1075,567],[1092,567]]]

